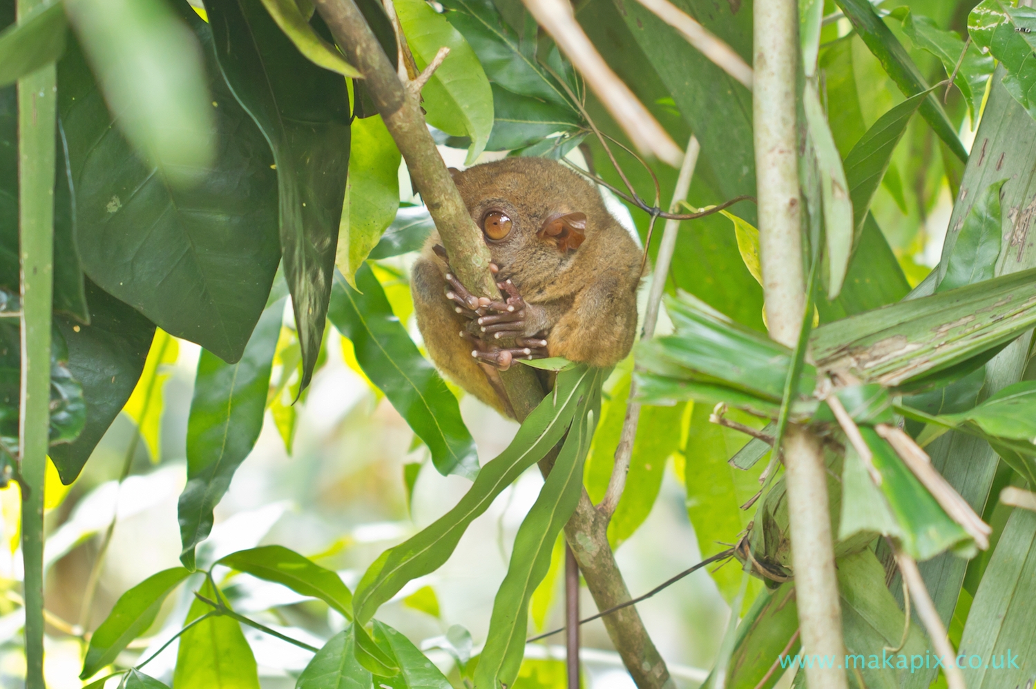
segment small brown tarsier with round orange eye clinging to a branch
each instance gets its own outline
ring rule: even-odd
[[[451,169],[483,232],[502,293],[472,295],[437,233],[413,266],[418,327],[432,360],[505,414],[498,370],[515,359],[565,357],[610,366],[633,344],[640,249],[598,190],[559,162],[514,157]]]

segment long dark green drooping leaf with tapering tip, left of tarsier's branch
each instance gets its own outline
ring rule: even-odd
[[[274,150],[306,389],[320,353],[349,167],[345,80],[303,57],[260,0],[209,0],[205,8],[220,68]]]

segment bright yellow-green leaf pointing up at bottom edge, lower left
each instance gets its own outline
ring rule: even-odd
[[[198,593],[209,600],[218,600],[220,595],[207,578]],[[195,599],[183,624],[194,622],[211,609],[207,603]],[[183,632],[176,654],[173,686],[259,689],[256,659],[244,639],[240,623],[220,615],[203,620]]]

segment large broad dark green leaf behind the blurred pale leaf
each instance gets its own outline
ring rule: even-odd
[[[166,332],[236,361],[280,259],[276,173],[262,132],[219,73],[208,25],[185,2],[175,7],[205,49],[217,103],[206,101],[212,112],[198,121],[212,122],[208,136],[224,144],[203,184],[171,186],[166,168],[138,157],[113,129],[115,118],[70,42],[58,63],[58,99],[77,245],[83,270],[106,292]]]

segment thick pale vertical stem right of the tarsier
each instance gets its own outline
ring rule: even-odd
[[[794,348],[806,304],[795,101],[799,13],[795,0],[759,0],[753,11],[752,116],[762,289],[770,336]],[[788,428],[783,445],[803,653],[841,657],[824,453],[814,436],[796,426]],[[847,686],[841,667],[807,668],[806,680],[813,689]]]

